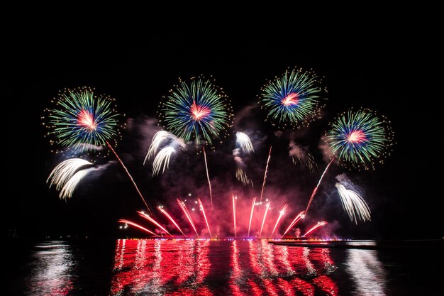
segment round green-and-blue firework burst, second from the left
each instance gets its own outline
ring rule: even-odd
[[[203,77],[189,83],[179,80],[162,102],[159,116],[174,135],[197,145],[203,140],[213,144],[214,138],[226,136],[233,118],[226,94]]]

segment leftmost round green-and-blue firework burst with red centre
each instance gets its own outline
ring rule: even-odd
[[[79,87],[59,92],[55,107],[46,109],[48,136],[55,136],[58,146],[95,150],[119,136],[115,100],[96,95],[94,89]]]

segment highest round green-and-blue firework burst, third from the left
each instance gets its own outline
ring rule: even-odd
[[[306,126],[320,116],[325,93],[314,72],[287,70],[262,87],[260,104],[268,111],[267,118],[279,127]]]

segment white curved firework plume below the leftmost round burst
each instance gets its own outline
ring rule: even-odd
[[[92,163],[82,158],[62,161],[52,170],[46,182],[50,182],[50,187],[55,185],[55,189],[60,190],[60,198],[70,198],[80,180],[91,170],[95,170],[91,168],[92,165]],[[89,168],[86,168],[88,166]]]

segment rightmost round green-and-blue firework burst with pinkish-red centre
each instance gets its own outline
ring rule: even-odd
[[[333,154],[345,164],[374,168],[391,151],[393,132],[389,121],[370,109],[340,114],[326,133],[326,141]]]

